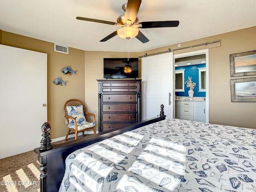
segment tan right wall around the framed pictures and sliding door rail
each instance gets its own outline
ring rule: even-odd
[[[215,124],[226,124],[246,128],[256,128],[256,103],[255,102],[231,102],[230,97],[230,62],[229,55],[234,53],[256,50],[256,26],[210,36],[198,40],[181,43],[181,47],[221,40],[221,46],[199,46],[185,50],[174,51],[174,54],[191,52],[195,50],[209,49],[209,121]],[[178,48],[177,44],[140,52],[139,56],[145,53],[166,51]],[[255,77],[255,76],[246,76]],[[243,78],[243,77],[238,77]]]

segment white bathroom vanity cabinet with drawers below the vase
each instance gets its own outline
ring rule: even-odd
[[[175,118],[205,122],[205,102],[176,101]]]

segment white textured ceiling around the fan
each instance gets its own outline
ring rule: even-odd
[[[119,27],[76,20],[76,16],[116,22],[127,0],[0,0],[0,29],[78,48],[127,51],[119,36],[102,38]],[[142,21],[179,20],[177,28],[140,29],[150,40],[130,39],[130,51],[140,52],[180,42],[256,26],[256,0],[142,0]]]

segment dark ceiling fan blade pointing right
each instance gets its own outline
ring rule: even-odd
[[[146,21],[138,23],[137,25],[142,25],[140,28],[158,28],[158,27],[178,27],[179,21]]]

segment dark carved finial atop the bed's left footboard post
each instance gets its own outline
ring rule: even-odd
[[[45,122],[42,125],[41,128],[43,134],[42,134],[42,140],[41,140],[41,147],[39,148],[40,151],[46,151],[52,148],[52,140],[50,139],[50,130],[51,130],[51,126],[48,122]]]

